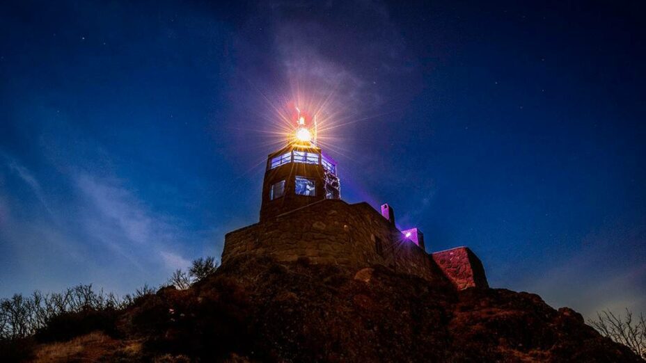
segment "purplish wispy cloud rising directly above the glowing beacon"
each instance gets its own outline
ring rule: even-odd
[[[350,3],[333,7],[318,1],[274,1],[262,7],[274,24],[276,62],[291,83],[292,96],[326,99],[332,94],[335,108],[372,109],[388,92],[380,77],[407,70],[405,49],[386,6],[381,1]],[[303,16],[331,11],[336,16]],[[359,31],[370,23],[379,24],[379,37]]]

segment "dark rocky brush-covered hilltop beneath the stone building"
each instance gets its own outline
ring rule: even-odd
[[[35,359],[643,362],[532,293],[459,291],[380,265],[354,271],[306,258],[229,261],[189,289],[165,287],[109,318],[70,321],[77,333],[38,345]]]

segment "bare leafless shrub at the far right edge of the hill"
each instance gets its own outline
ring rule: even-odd
[[[590,319],[588,323],[599,331],[604,337],[624,344],[637,355],[646,359],[646,317],[639,314],[633,318],[633,313],[626,309],[624,316],[613,314],[610,310],[597,312],[597,319]]]

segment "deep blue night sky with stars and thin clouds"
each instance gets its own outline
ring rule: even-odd
[[[427,250],[468,245],[553,307],[646,312],[639,3],[3,2],[0,297],[219,257],[300,105],[342,198],[388,202]]]

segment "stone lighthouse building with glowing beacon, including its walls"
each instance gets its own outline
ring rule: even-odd
[[[400,231],[388,204],[381,213],[368,203],[340,199],[338,165],[316,145],[299,118],[290,143],[269,154],[258,223],[225,236],[221,262],[269,256],[307,257],[313,264],[359,270],[383,265],[430,282],[448,278],[457,289],[488,287],[480,259],[466,247],[427,253],[417,228]]]

